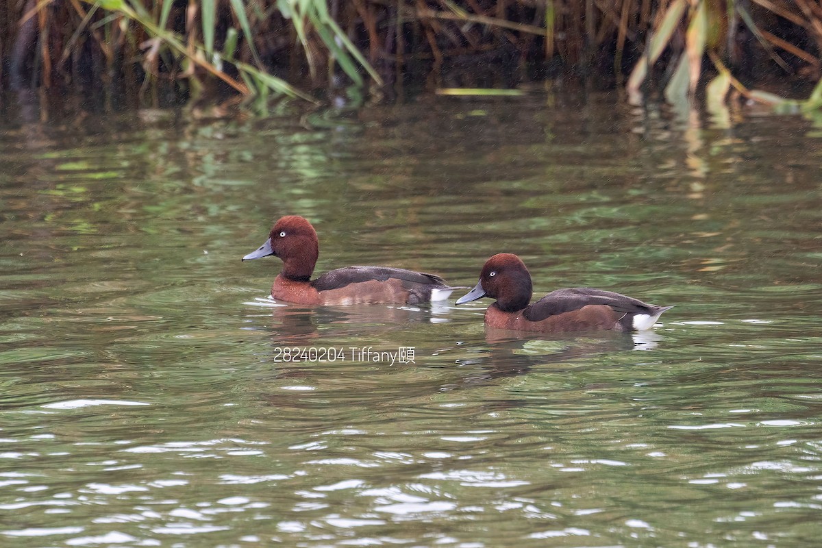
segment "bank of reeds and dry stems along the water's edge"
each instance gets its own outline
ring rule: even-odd
[[[817,79],[822,49],[810,0],[25,0],[2,2],[0,21],[4,85],[154,104],[213,83],[310,100],[301,89],[340,78],[478,88],[561,71],[630,73],[632,98],[674,101],[699,89],[705,53],[716,95],[731,74],[739,90],[768,73]]]

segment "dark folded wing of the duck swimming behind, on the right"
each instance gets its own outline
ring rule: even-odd
[[[595,288],[557,289],[526,308],[523,315],[531,321],[545,320],[548,316],[580,310],[586,305],[607,305],[623,314],[652,314],[658,306],[639,299]]]

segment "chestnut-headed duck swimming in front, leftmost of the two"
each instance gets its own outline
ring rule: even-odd
[[[444,301],[456,288],[434,274],[387,266],[349,266],[312,280],[320,243],[312,224],[298,215],[279,219],[266,243],[242,260],[276,256],[283,270],[271,297],[302,305],[418,304]]]

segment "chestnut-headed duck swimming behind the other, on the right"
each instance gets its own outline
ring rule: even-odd
[[[499,253],[487,260],[479,283],[457,304],[491,297],[485,324],[514,331],[582,331],[651,329],[672,306],[649,305],[620,293],[594,288],[557,289],[529,305],[531,274],[520,257]]]

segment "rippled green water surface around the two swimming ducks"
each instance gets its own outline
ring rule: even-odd
[[[548,99],[5,126],[0,544],[815,546],[819,131]],[[271,306],[240,257],[284,214],[318,273],[508,251],[538,296],[676,307],[506,338],[487,300]]]

